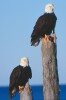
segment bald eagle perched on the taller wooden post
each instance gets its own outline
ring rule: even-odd
[[[45,7],[45,13],[40,16],[34,26],[31,34],[31,45],[37,46],[41,38],[45,35],[51,35],[55,33],[57,17],[54,13],[54,5],[47,4]]]

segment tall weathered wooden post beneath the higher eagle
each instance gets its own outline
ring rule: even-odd
[[[57,47],[54,41],[48,42],[44,38],[42,39],[42,63],[44,100],[59,100]]]

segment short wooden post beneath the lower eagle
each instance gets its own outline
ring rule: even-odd
[[[29,84],[26,84],[23,91],[20,91],[20,100],[33,100],[32,99],[32,91]]]

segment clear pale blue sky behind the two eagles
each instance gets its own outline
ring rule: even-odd
[[[10,74],[21,57],[29,58],[30,84],[42,84],[41,42],[31,46],[30,36],[47,3],[55,6],[59,82],[66,84],[66,0],[0,0],[0,86],[9,85]]]

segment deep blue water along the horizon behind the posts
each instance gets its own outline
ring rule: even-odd
[[[34,100],[43,100],[43,87],[31,86]],[[60,100],[66,100],[66,85],[60,85]],[[0,87],[0,100],[9,100],[8,87]],[[20,95],[17,93],[12,100],[20,100]]]

